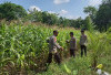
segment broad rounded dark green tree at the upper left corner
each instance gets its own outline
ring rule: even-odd
[[[0,19],[14,20],[27,15],[27,11],[11,2],[0,4]]]

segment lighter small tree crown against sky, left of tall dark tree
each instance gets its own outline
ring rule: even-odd
[[[97,9],[94,7],[87,7],[84,8],[83,10],[84,13],[89,14],[92,19],[92,21],[94,21],[95,19],[95,15],[97,15]]]

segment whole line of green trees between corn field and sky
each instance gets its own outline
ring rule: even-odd
[[[73,26],[75,29],[99,30],[107,31],[111,26],[111,0],[103,0],[99,9],[94,7],[85,7],[84,13],[88,14],[85,19],[67,19],[59,17],[58,13],[49,13],[48,11],[24,10],[23,7],[4,2],[0,4],[0,20],[6,19],[21,20],[23,22],[42,22],[49,25]]]

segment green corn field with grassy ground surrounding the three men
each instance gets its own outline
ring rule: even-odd
[[[62,64],[57,66],[53,62],[48,72],[42,72],[48,57],[47,39],[53,30],[59,30],[58,43],[63,47],[59,51]],[[77,57],[69,60],[70,32],[74,32],[77,39]],[[91,75],[90,66],[103,64],[104,71],[111,73],[111,34],[89,32],[88,57],[80,57],[80,30],[73,28],[46,26],[33,24],[0,24],[0,75]],[[64,67],[65,65],[67,67]],[[65,71],[68,68],[70,72]],[[42,72],[42,73],[41,73]],[[54,73],[53,73],[54,72]]]

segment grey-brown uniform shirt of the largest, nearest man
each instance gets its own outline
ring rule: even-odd
[[[52,35],[49,39],[49,52],[57,53],[57,49],[60,49],[61,46],[57,43],[57,38]]]

